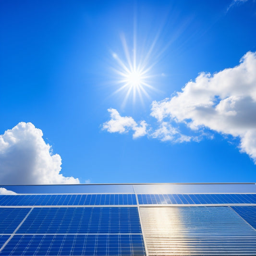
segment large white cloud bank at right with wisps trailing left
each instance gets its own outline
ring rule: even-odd
[[[153,101],[150,115],[157,120],[158,128],[145,129],[143,135],[161,141],[199,141],[204,130],[210,129],[240,138],[241,152],[256,163],[256,53],[247,52],[233,68],[214,74],[200,73],[175,96]],[[115,127],[122,128],[119,126],[122,117],[112,119],[111,116]],[[129,120],[135,122],[131,117]],[[197,135],[181,134],[173,123],[183,124]],[[121,128],[107,130],[126,131]]]

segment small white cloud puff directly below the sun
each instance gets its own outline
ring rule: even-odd
[[[147,134],[147,124],[145,121],[141,121],[139,124],[134,121],[132,117],[122,117],[115,109],[108,109],[110,112],[110,121],[103,123],[103,130],[107,130],[110,133],[127,133],[128,131],[134,131],[133,138],[138,138]]]

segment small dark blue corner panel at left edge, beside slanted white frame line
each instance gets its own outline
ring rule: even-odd
[[[30,208],[0,208],[0,233],[12,233],[29,210]]]

